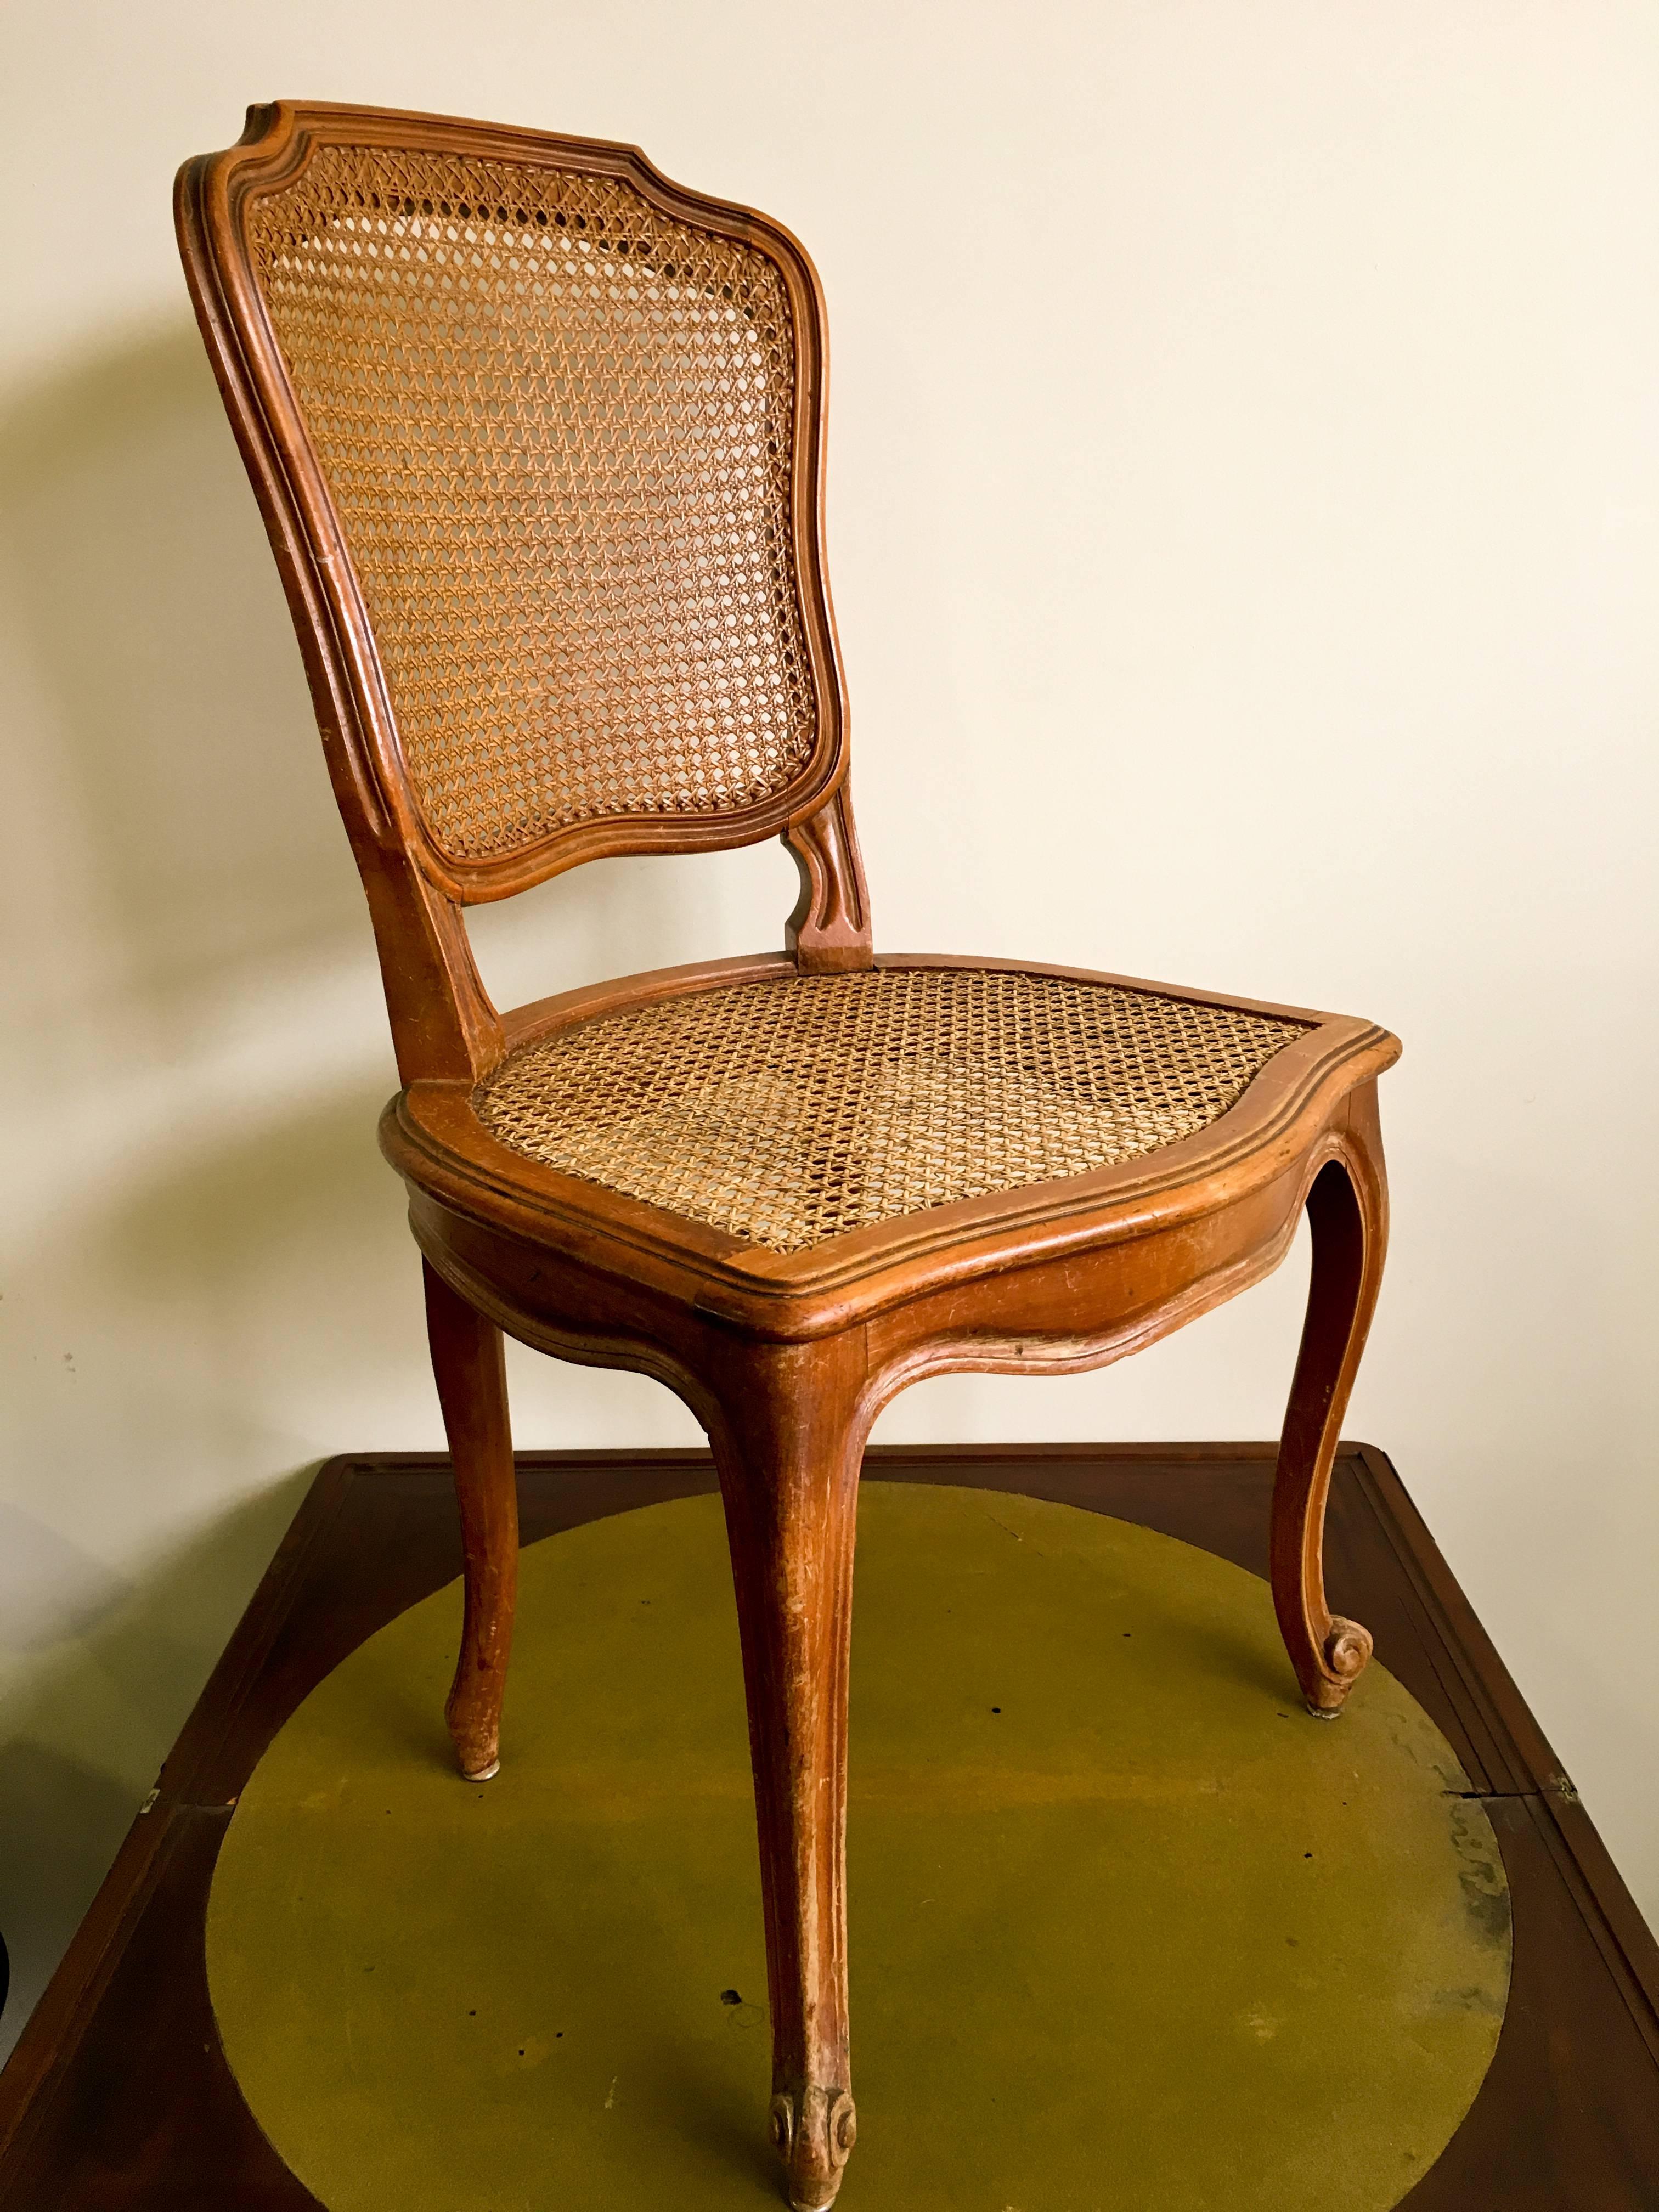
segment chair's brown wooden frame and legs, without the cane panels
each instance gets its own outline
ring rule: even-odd
[[[816,688],[812,757],[772,799],[719,816],[626,816],[460,860],[427,832],[334,504],[252,279],[250,192],[319,142],[434,148],[624,177],[664,212],[761,248],[796,343],[794,564]],[[1075,1374],[1124,1358],[1270,1274],[1305,1210],[1314,1270],[1272,1504],[1272,1595],[1310,1712],[1334,1719],[1371,1639],[1332,1615],[1332,1460],[1376,1305],[1387,1183],[1374,1022],[1037,962],[872,953],[847,787],[847,710],[823,564],[823,294],[796,241],[688,192],[633,146],[447,117],[279,102],[179,173],[190,294],[270,531],[334,792],[369,900],[403,1091],[380,1141],[409,1188],[431,1363],[456,1464],[465,1628],[449,1725],[465,1774],[495,1772],[518,1509],[502,1332],[628,1367],[708,1431],[732,1551],[754,1763],[772,2015],[772,2141],[799,2212],[834,2201],[856,2137],[847,2024],[847,1652],[863,1444],[880,1407],[947,1371]],[[462,909],[599,854],[781,836],[801,867],[785,949],[659,969],[515,1013],[491,1004]],[[869,967],[1015,969],[1117,982],[1310,1024],[1237,1106],[1164,1150],[770,1252],[562,1175],[495,1141],[473,1086],[533,1037],[648,1000]]]

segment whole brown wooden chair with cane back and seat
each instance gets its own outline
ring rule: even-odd
[[[854,2143],[843,1896],[858,1467],[951,1369],[1068,1374],[1314,1279],[1272,1515],[1312,1712],[1338,1422],[1383,1267],[1371,1022],[872,953],[823,575],[825,314],[776,223],[630,146],[252,108],[179,175],[201,332],[363,872],[456,1462],[462,1774],[495,1772],[518,1526],[502,1329],[657,1376],[719,1464],[743,1639],[772,2141]],[[781,836],[785,949],[500,1015],[462,909],[599,854]]]

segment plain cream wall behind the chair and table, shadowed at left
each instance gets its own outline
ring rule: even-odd
[[[13,0],[0,38],[24,2000],[303,1469],[438,1442],[367,925],[168,223],[274,93],[637,139],[807,239],[880,942],[1405,1035],[1349,1431],[1659,1916],[1659,13]],[[790,896],[776,847],[606,863],[480,936],[531,995],[776,942]],[[1303,1276],[880,1433],[1267,1436]],[[513,1378],[526,1444],[692,1436],[637,1378]]]

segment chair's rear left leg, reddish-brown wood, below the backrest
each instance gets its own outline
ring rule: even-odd
[[[460,1772],[476,1783],[500,1767],[502,1692],[518,1597],[518,1482],[507,1418],[502,1332],[453,1292],[429,1261],[427,1338],[449,1458],[456,1467],[467,1613],[445,1719]]]

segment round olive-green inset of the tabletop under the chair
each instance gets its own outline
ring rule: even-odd
[[[208,1913],[237,2079],[330,2212],[774,2205],[719,1502],[531,1546],[518,1621],[495,1781],[442,1732],[458,1586],[261,1761]],[[1376,1663],[1312,1721],[1254,1575],[867,1484],[845,2212],[1387,2212],[1509,1993],[1467,1787]]]

